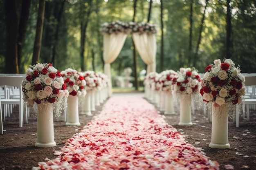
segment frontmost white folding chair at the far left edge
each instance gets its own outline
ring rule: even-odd
[[[20,127],[22,127],[23,124],[23,117],[24,117],[24,110],[25,110],[25,123],[27,123],[27,112],[24,101],[22,99],[22,86],[21,82],[25,77],[23,76],[0,76],[0,86],[14,86],[19,88],[19,98],[18,99],[1,99],[2,105],[19,105],[19,123]]]

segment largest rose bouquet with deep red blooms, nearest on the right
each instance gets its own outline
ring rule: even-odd
[[[214,60],[205,68],[200,94],[204,102],[213,102],[215,107],[222,104],[235,105],[242,102],[245,95],[245,77],[240,73],[240,67],[235,67],[232,60]]]

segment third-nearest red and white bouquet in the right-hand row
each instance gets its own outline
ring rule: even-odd
[[[162,91],[170,91],[172,90],[173,78],[177,76],[177,72],[173,70],[166,70],[160,73],[159,82],[161,83]]]

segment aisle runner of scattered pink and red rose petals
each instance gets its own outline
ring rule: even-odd
[[[111,97],[42,170],[218,170],[142,97]]]

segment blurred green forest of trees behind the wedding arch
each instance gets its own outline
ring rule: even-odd
[[[242,73],[256,72],[256,0],[2,0],[0,73],[25,73],[35,62],[59,71],[103,72],[104,22],[157,25],[157,72],[231,58]],[[146,65],[128,35],[112,75]]]

